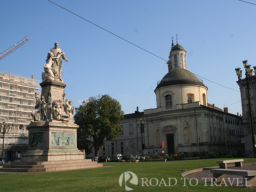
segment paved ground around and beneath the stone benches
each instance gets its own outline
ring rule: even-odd
[[[210,173],[210,169],[216,169],[219,167],[206,167],[203,168],[202,171],[200,172],[194,172],[194,173],[190,173],[189,175],[186,175],[185,177],[192,179],[192,180],[198,180],[198,182],[204,182],[205,181],[207,183],[211,183],[211,179],[202,179],[202,178],[212,178],[212,173]],[[256,163],[243,163],[243,167],[235,167],[235,164],[228,164],[227,166],[228,169],[243,169],[243,170],[256,170]],[[242,178],[242,176],[239,175],[226,175],[226,182],[227,185],[230,186],[229,180],[228,178],[230,178],[230,181],[234,181],[232,186],[237,187],[237,180],[241,181],[241,179],[233,179],[233,178]],[[218,183],[217,183],[218,184]],[[239,185],[241,185],[241,183],[239,183]],[[247,187],[248,189],[253,189],[256,190],[256,187]]]

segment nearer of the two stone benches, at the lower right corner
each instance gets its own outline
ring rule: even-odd
[[[223,179],[226,180],[226,175],[239,175],[243,176],[242,184],[244,187],[256,186],[256,171],[253,170],[240,170],[240,169],[211,169],[213,178],[216,183],[220,183]]]

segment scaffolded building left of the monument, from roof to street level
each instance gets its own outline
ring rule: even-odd
[[[27,125],[32,120],[35,92],[40,90],[39,80],[0,71],[0,122],[9,124],[4,135],[4,160],[15,161],[28,148]],[[0,157],[3,134],[0,139]]]

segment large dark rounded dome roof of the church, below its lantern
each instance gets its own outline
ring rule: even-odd
[[[167,73],[163,79],[157,82],[157,88],[173,84],[194,84],[205,87],[201,79],[199,80],[193,73],[181,68],[172,70]]]

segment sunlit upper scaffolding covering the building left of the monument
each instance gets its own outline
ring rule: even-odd
[[[0,122],[9,123],[11,129],[26,129],[32,120],[35,91],[39,80],[0,71]]]

